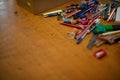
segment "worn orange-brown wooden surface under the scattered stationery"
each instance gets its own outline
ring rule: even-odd
[[[0,80],[120,80],[120,44],[88,50],[92,34],[77,45],[67,39],[71,30],[57,17],[33,15],[13,0],[0,0]],[[101,48],[107,56],[97,60],[93,53]]]

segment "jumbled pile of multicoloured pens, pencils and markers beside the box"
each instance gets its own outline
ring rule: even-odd
[[[87,45],[88,49],[92,49],[94,45],[120,42],[120,25],[100,23],[100,18],[106,22],[120,21],[120,7],[116,0],[107,4],[100,4],[98,0],[84,0],[82,4],[71,4],[66,9],[44,13],[43,16],[58,16],[61,25],[73,27],[69,34],[71,39],[77,40],[77,44],[80,44],[87,34],[93,32],[94,35]],[[99,53],[103,54],[105,51]]]

